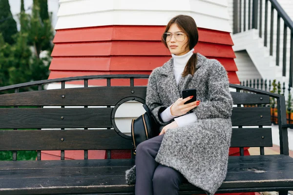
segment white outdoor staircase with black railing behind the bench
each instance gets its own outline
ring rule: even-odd
[[[241,53],[247,52],[251,58],[247,69],[254,75],[277,79],[292,87],[293,21],[279,1],[293,5],[292,0],[229,0],[233,50],[238,58],[245,58]],[[238,67],[237,61],[244,59],[235,59]],[[237,75],[240,80],[248,76],[241,68]]]

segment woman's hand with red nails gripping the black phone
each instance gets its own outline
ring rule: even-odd
[[[173,103],[173,105],[170,108],[171,115],[175,117],[179,117],[182,115],[185,115],[189,110],[195,108],[196,106],[199,105],[199,100],[190,102],[188,104],[184,104],[187,102],[189,99],[193,98],[193,96],[189,96],[187,98],[179,98]]]

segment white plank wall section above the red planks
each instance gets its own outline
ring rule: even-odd
[[[55,29],[104,25],[166,25],[192,16],[198,27],[231,32],[227,0],[60,0]]]

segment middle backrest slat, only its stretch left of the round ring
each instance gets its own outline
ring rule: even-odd
[[[107,128],[112,108],[0,108],[3,128]]]

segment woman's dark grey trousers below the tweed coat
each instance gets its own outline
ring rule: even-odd
[[[155,161],[163,137],[148,139],[136,148],[135,195],[178,195],[184,176]]]

